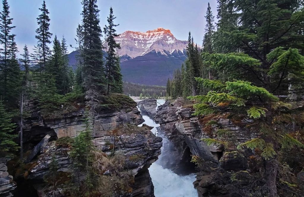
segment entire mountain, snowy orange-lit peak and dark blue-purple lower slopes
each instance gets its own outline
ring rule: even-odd
[[[186,59],[187,41],[176,39],[170,30],[163,28],[145,33],[126,31],[115,39],[121,45],[117,53],[124,81],[165,86],[167,79],[172,78],[174,70],[180,69]],[[105,44],[104,47],[106,50]],[[68,55],[74,69],[76,55],[78,51]],[[104,60],[105,56],[104,52]]]

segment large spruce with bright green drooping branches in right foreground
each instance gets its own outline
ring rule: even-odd
[[[268,196],[278,196],[279,153],[293,145],[302,147],[290,134],[302,127],[295,117],[302,117],[298,102],[304,95],[304,12],[299,1],[220,2],[214,51],[231,53],[204,55],[223,83],[198,79],[215,92],[201,97],[195,109],[197,114],[224,111],[253,120],[246,126],[257,138],[239,148],[261,150],[257,155],[266,170]],[[279,100],[281,95],[287,98]]]

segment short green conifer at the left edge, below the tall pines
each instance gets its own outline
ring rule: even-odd
[[[12,123],[12,116],[5,110],[0,99],[0,157],[7,156],[18,150],[18,145],[14,142],[17,135],[14,134],[16,125]]]

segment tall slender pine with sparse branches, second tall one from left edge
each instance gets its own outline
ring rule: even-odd
[[[48,16],[49,11],[47,9],[45,1],[43,1],[42,8],[39,8],[39,10],[41,11],[41,14],[37,18],[37,24],[39,27],[36,29],[37,35],[35,37],[38,40],[36,46],[36,49],[38,49],[38,51],[36,51],[36,56],[37,59],[39,58],[41,75],[50,57],[50,48],[48,47],[48,44],[51,43],[50,38],[52,36],[52,33],[49,32],[50,18]]]

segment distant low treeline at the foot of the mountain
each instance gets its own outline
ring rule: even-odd
[[[166,87],[123,82],[123,92],[134,97],[165,97]]]

